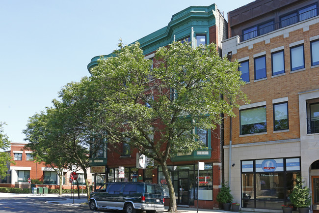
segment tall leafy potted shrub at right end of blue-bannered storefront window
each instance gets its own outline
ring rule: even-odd
[[[302,187],[301,178],[297,178],[297,183],[293,186],[290,194],[290,201],[293,206],[298,208],[299,213],[309,213],[309,206],[311,205],[311,197],[309,195],[309,187]]]

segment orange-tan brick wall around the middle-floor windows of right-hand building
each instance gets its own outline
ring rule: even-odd
[[[309,29],[309,30],[308,30]],[[247,94],[251,103],[266,101],[267,134],[241,136],[239,137],[239,110],[235,110],[236,118],[232,119],[232,143],[245,144],[264,141],[276,141],[300,138],[299,127],[299,105],[298,92],[309,91],[319,88],[319,67],[311,68],[310,40],[312,36],[319,35],[319,24],[310,25],[309,28],[300,28],[287,34],[281,34],[270,38],[270,42],[265,40],[254,43],[253,48],[248,45],[237,49],[233,53],[232,60],[249,57],[249,79],[250,82],[242,87],[242,91]],[[289,44],[304,40],[305,70],[291,73],[290,47]],[[271,76],[271,53],[270,50],[284,46],[285,53],[285,74],[281,76]],[[250,45],[251,47],[251,45]],[[266,80],[254,82],[254,54],[266,51]],[[288,97],[289,131],[273,131],[273,106],[272,100],[276,98]],[[239,103],[243,105],[243,103]],[[229,145],[229,118],[225,119],[225,145]]]

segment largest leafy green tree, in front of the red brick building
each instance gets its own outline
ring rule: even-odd
[[[154,68],[139,43],[119,47],[87,79],[95,88],[86,96],[96,102],[96,126],[107,132],[108,143],[126,143],[153,158],[175,198],[167,159],[206,149],[194,129],[212,130],[222,114],[234,116],[237,101],[245,100],[239,64],[220,58],[214,44],[173,42],[156,52]],[[175,199],[169,210],[176,212]]]

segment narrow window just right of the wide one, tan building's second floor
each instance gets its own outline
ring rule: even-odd
[[[288,104],[274,105],[274,130],[288,129]]]

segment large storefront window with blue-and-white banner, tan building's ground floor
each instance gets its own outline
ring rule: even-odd
[[[297,157],[241,161],[242,207],[280,210],[290,204],[299,165]]]

